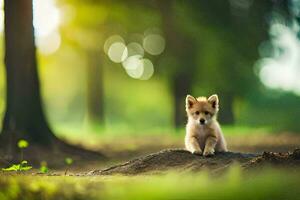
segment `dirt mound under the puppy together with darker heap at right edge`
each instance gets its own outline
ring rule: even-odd
[[[264,152],[262,155],[226,152],[217,153],[211,157],[194,155],[183,149],[168,149],[104,170],[94,170],[89,175],[159,174],[170,170],[198,172],[204,169],[219,173],[234,163],[241,165],[244,169],[264,166],[300,167],[300,149],[292,153]]]

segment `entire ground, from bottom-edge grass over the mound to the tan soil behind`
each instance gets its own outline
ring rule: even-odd
[[[183,150],[182,136],[134,135],[118,137],[117,141],[115,137],[97,136],[86,143],[73,138],[69,142],[101,152],[106,157],[86,159],[72,154],[53,156],[51,152],[42,151],[38,157],[40,161],[46,160],[48,163],[49,172],[46,174],[39,172],[39,162],[33,159],[37,155],[32,156],[27,149],[24,157],[33,164],[34,169],[17,173],[0,172],[0,199],[197,199],[199,196],[232,199],[237,195],[243,195],[243,199],[299,197],[299,152],[292,153],[300,147],[299,135],[228,135],[231,152],[209,158]],[[272,154],[264,151],[291,153]],[[64,163],[66,156],[72,156],[74,160],[70,169]],[[273,165],[263,165],[261,168],[262,163],[276,162],[286,162],[286,165],[275,168]],[[6,165],[1,162],[2,167]]]

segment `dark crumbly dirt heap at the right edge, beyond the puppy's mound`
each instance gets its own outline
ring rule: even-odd
[[[245,169],[257,169],[266,166],[300,167],[300,149],[287,153],[264,152],[262,155],[250,160],[243,167]]]

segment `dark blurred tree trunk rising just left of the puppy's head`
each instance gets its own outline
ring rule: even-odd
[[[171,90],[174,97],[174,125],[175,128],[180,128],[186,123],[185,97],[191,93],[196,69],[196,46],[192,38],[182,33],[181,28],[176,24],[174,1],[158,2],[166,38],[166,53],[179,62],[171,75]]]

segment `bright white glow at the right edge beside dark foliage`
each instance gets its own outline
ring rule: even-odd
[[[271,55],[259,60],[257,65],[260,68],[259,77],[267,87],[300,94],[300,41],[297,37],[299,27],[294,25],[271,25],[271,45],[260,47],[261,54],[271,52]]]

